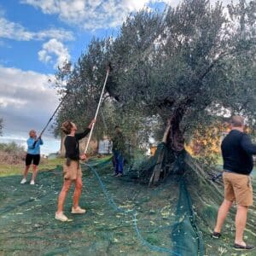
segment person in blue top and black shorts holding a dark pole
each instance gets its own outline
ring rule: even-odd
[[[43,140],[41,137],[37,137],[37,132],[35,130],[29,131],[29,138],[27,143],[27,154],[26,154],[26,168],[24,170],[23,178],[21,184],[26,183],[26,177],[31,164],[33,165],[32,179],[30,184],[35,184],[35,179],[38,174],[38,165],[40,162],[40,146],[43,145]]]

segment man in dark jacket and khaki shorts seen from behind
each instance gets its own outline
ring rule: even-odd
[[[250,173],[253,171],[253,154],[256,145],[251,142],[244,130],[244,119],[233,116],[231,131],[224,137],[221,151],[224,160],[224,201],[218,209],[218,218],[212,237],[219,238],[224,220],[236,201],[236,238],[234,248],[253,249],[243,241],[243,231],[247,224],[247,210],[253,205],[253,188]]]

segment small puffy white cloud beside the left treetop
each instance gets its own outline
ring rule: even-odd
[[[66,61],[70,60],[67,48],[55,38],[43,44],[43,49],[38,52],[39,60],[45,63],[53,62],[53,56],[55,56],[55,68],[62,67]]]

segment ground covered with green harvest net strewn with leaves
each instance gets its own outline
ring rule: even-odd
[[[182,248],[186,253],[177,253],[172,241],[173,224],[182,222],[177,219],[177,179],[148,189],[143,184],[112,177],[108,161],[104,166],[102,160],[90,161],[90,165],[96,165],[93,167],[96,173],[83,167],[84,190],[80,200],[87,212],[70,213],[72,189],[65,204],[65,212],[71,219],[67,223],[54,218],[62,185],[61,166],[40,171],[35,186],[21,185],[21,175],[0,177],[0,255],[195,255],[188,247]],[[212,209],[211,200],[207,201],[203,191],[200,191],[203,203],[198,204],[195,188],[189,185],[188,189],[205,255],[256,255],[256,252],[236,253],[231,248],[234,235],[231,219],[226,223],[223,238],[212,240],[211,222],[205,222],[205,217],[209,212],[215,216],[218,207]],[[202,204],[208,205],[203,207],[206,211],[203,214]],[[254,222],[255,208],[251,211]],[[255,241],[251,230],[245,235],[249,241]],[[193,237],[185,236],[193,246]]]

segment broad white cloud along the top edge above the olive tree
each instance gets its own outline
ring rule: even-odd
[[[237,2],[235,0],[233,2]],[[212,0],[216,3],[217,0]],[[224,0],[228,3],[230,0]],[[41,9],[47,15],[59,15],[68,24],[86,30],[116,27],[122,24],[131,12],[143,9],[148,4],[167,3],[172,7],[179,0],[20,0]]]

